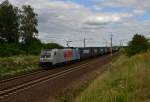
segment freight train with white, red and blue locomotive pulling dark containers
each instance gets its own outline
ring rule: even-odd
[[[65,48],[65,49],[44,49],[40,54],[39,65],[49,67],[71,61],[84,60],[100,55],[105,55],[119,50],[119,47],[86,47],[86,48]]]

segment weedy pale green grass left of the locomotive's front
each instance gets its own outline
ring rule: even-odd
[[[39,70],[39,56],[13,56],[0,58],[0,79]]]

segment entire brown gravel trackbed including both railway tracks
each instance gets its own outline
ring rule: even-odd
[[[110,60],[110,56],[102,56],[3,81],[0,84],[0,102],[48,102],[43,100],[61,91],[83,74],[106,65]]]

